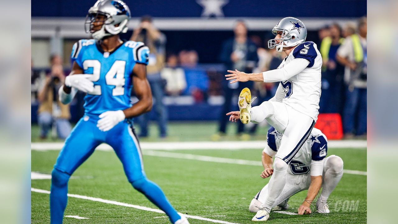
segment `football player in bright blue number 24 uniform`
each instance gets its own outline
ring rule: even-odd
[[[86,18],[86,32],[94,39],[82,39],[73,46],[72,72],[59,89],[59,97],[67,104],[77,90],[86,92],[85,114],[66,139],[51,173],[51,224],[62,223],[70,176],[101,143],[113,147],[135,189],[162,209],[172,223],[189,224],[144,173],[131,118],[152,108],[146,79],[149,49],[142,42],[119,38],[119,33],[127,31],[130,18],[123,1],[98,0]],[[132,88],[139,98],[134,105],[130,102]]]

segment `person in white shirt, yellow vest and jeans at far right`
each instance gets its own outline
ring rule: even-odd
[[[367,132],[367,19],[358,22],[358,34],[348,36],[337,51],[337,60],[345,66],[347,85],[343,112],[346,138]]]

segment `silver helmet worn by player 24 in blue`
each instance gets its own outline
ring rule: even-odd
[[[104,16],[104,19],[98,20],[98,15]],[[127,22],[129,22],[130,18],[130,9],[123,1],[98,0],[88,10],[84,28],[86,33],[92,33],[95,39],[102,39],[105,36],[115,35],[120,32],[126,33],[128,29]],[[94,31],[94,22],[103,22],[101,29]]]

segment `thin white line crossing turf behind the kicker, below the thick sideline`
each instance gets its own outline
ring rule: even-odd
[[[199,160],[199,161],[215,162],[215,163],[230,163],[230,164],[251,165],[251,166],[261,166],[262,165],[261,161],[253,161],[253,160],[246,160],[246,159],[229,159],[229,158],[213,157],[213,156],[207,156],[207,155],[194,155],[194,154],[187,154],[187,153],[167,152],[167,151],[149,151],[149,150],[147,150],[147,151],[143,151],[142,154],[150,155],[150,156],[176,158],[176,159],[191,159],[191,160]],[[367,176],[366,171],[344,169],[343,173]]]

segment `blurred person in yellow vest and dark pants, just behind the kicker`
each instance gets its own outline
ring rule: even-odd
[[[342,113],[344,99],[344,67],[336,61],[336,52],[343,43],[341,28],[338,24],[329,26],[330,36],[324,37],[320,45],[322,55],[322,95],[320,112]]]

